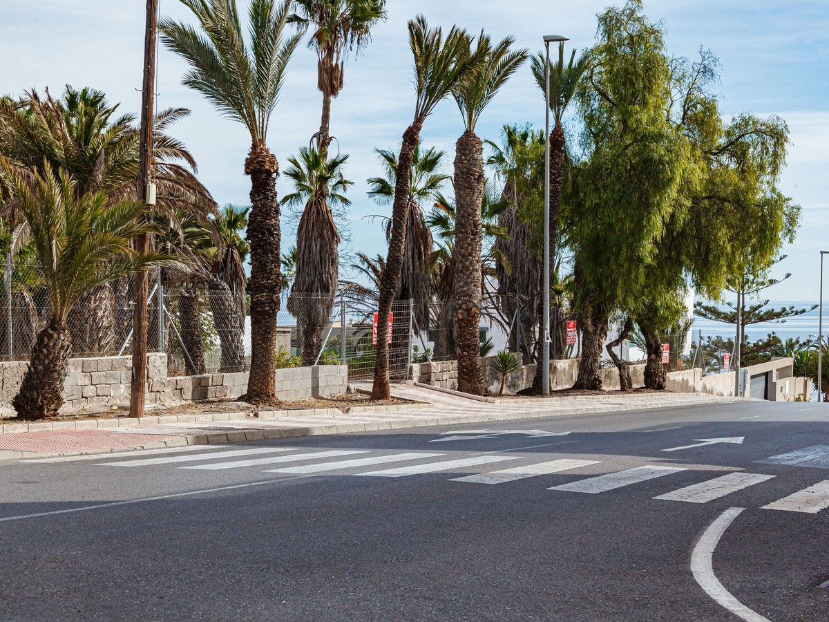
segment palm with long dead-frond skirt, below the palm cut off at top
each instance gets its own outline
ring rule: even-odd
[[[285,173],[294,192],[284,197],[286,207],[304,203],[297,230],[297,263],[288,311],[303,328],[303,364],[313,365],[322,345],[322,328],[331,318],[339,281],[340,235],[331,205],[347,207],[345,192],[354,182],[342,177],[347,155],[323,158],[314,148],[301,148],[289,158]]]

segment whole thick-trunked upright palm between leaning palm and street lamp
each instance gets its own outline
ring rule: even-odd
[[[512,37],[492,46],[488,36],[478,36],[479,61],[467,80],[453,85],[452,95],[463,116],[465,131],[455,147],[455,336],[458,349],[458,391],[483,395],[481,371],[481,202],[483,198],[483,143],[475,126],[498,90],[526,61],[527,50],[511,51]]]

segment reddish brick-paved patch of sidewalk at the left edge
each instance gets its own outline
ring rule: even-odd
[[[38,454],[71,454],[88,451],[135,449],[172,436],[128,434],[110,430],[61,430],[0,435],[0,450]]]

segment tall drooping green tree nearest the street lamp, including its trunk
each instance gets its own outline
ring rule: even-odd
[[[574,386],[600,389],[610,314],[651,293],[651,260],[693,162],[665,114],[671,69],[662,27],[642,15],[640,0],[599,15],[588,54],[577,89],[586,159],[569,224],[583,334]]]

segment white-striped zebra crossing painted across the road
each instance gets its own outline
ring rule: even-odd
[[[200,450],[201,449],[201,450]],[[457,454],[457,452],[448,452]],[[247,449],[226,449],[226,446],[182,447],[163,450],[134,452],[131,454],[85,456],[93,466],[124,468],[146,468],[169,466],[172,469],[218,471],[266,467],[263,473],[318,476],[343,474],[364,478],[405,478],[424,474],[445,473],[479,468],[482,472],[449,478],[447,481],[461,484],[508,484],[524,479],[555,474],[574,475],[579,469],[596,467],[602,460],[594,459],[553,459],[519,464],[505,469],[497,465],[509,461],[531,460],[530,456],[519,454],[473,454],[458,458],[444,452],[398,451],[374,449],[312,449],[291,447],[253,447]],[[143,457],[143,456],[150,457]],[[67,457],[70,461],[77,457]],[[33,459],[25,462],[54,463],[57,459]],[[198,464],[195,464],[198,463]],[[291,464],[302,463],[302,464]],[[401,466],[390,466],[405,463]],[[283,466],[287,464],[286,466]],[[274,468],[267,468],[273,466]],[[507,466],[507,465],[505,465]],[[385,468],[387,467],[387,468]],[[487,470],[492,469],[492,470]],[[649,480],[668,482],[670,476],[678,473],[694,473],[688,467],[646,464],[633,469],[578,477],[578,479],[546,488],[557,493],[601,494],[619,488],[634,487]],[[658,501],[679,503],[709,503],[727,495],[739,493],[746,488],[763,484],[774,475],[733,472],[713,479],[697,482],[652,497]],[[664,478],[664,480],[663,480]],[[816,514],[829,508],[829,479],[803,488],[763,506],[764,509],[784,512]]]

